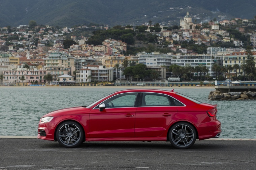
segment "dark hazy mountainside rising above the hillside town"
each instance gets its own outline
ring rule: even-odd
[[[255,0],[0,0],[0,27],[37,24],[141,25],[149,20],[165,25],[179,24],[189,11],[197,22],[213,18],[254,17]],[[222,17],[221,17],[222,16]]]

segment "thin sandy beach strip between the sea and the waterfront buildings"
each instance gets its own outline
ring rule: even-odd
[[[131,89],[215,89],[207,86],[0,86],[0,88],[131,88]]]

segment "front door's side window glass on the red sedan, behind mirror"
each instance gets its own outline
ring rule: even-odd
[[[113,96],[102,103],[105,104],[106,108],[130,108],[134,107],[135,100],[138,93],[125,93]],[[96,107],[98,109],[99,106]]]

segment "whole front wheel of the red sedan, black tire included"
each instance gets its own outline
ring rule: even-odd
[[[84,129],[73,121],[67,121],[60,124],[56,130],[56,139],[64,147],[77,147],[83,143]]]

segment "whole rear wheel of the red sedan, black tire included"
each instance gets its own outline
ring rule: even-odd
[[[196,141],[196,130],[194,126],[189,123],[179,122],[172,125],[168,137],[174,147],[187,149]]]

